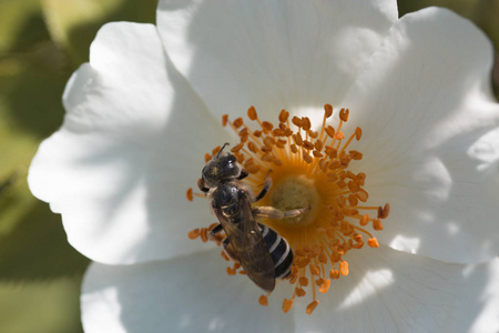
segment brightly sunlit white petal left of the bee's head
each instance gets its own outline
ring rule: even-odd
[[[98,262],[206,249],[186,233],[212,219],[207,203],[187,202],[185,191],[204,153],[226,140],[220,121],[165,58],[154,26],[103,27],[90,58],[68,83],[62,128],[32,162],[31,191]]]

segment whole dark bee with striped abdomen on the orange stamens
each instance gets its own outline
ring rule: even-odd
[[[203,168],[197,186],[211,199],[212,210],[220,224],[212,229],[210,236],[222,230],[227,255],[240,262],[247,276],[262,290],[272,292],[276,279],[289,275],[293,251],[287,241],[273,229],[256,222],[256,218],[294,218],[309,208],[279,211],[273,206],[252,208],[252,203],[263,199],[271,190],[272,179],[267,174],[262,191],[255,198],[242,182],[248,172],[230,152],[221,150]]]

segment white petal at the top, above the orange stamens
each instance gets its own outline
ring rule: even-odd
[[[210,111],[234,115],[339,100],[396,20],[393,0],[163,0],[157,9],[175,67]]]

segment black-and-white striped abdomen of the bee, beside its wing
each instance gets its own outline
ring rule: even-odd
[[[285,239],[266,225],[258,223],[262,236],[271,252],[275,268],[275,279],[284,279],[291,273],[293,251]]]

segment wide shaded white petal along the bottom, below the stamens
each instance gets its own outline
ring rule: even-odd
[[[497,332],[499,260],[447,264],[389,248],[348,255],[350,273],[281,313],[245,276],[227,276],[218,251],[130,266],[92,264],[82,292],[85,332]]]

